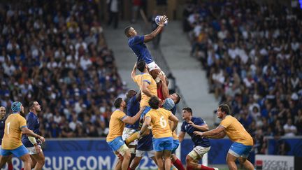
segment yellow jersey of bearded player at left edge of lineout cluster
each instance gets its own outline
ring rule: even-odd
[[[126,118],[126,114],[120,110],[116,110],[112,113],[109,122],[109,133],[107,135],[106,141],[110,142],[118,136],[122,136],[125,123],[122,121]]]

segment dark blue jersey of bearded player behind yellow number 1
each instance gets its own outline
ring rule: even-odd
[[[38,116],[35,113],[29,112],[26,116],[27,128],[32,130],[35,134],[39,134],[40,122]],[[33,147],[34,145],[29,141],[27,135],[22,135],[22,143],[25,147]]]

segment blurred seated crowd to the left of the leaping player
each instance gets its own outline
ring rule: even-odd
[[[106,136],[122,94],[93,1],[15,1],[0,6],[0,105],[37,100],[41,135]]]

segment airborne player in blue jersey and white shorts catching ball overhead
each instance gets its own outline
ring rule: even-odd
[[[168,21],[168,17],[166,17],[166,15],[162,16],[161,19],[159,20],[159,26],[157,27],[157,29],[155,29],[150,34],[147,34],[145,36],[138,36],[137,31],[133,27],[126,27],[124,29],[124,34],[129,38],[128,45],[131,48],[131,50],[136,54],[137,62],[140,60],[145,61],[150,71],[150,75],[156,81],[157,96],[160,99],[163,99],[163,97],[161,92],[160,78],[157,76],[159,74],[163,75],[164,72],[161,71],[161,69],[159,68],[159,66],[157,66],[157,64],[155,64],[154,59],[152,58],[152,55],[150,54],[145,43],[152,41],[152,39],[161,32],[161,30],[164,27],[164,23],[166,21]]]

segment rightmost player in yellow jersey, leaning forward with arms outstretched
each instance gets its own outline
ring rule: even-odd
[[[206,138],[220,139],[223,137],[220,136],[221,133],[227,133],[229,139],[234,142],[227,154],[227,164],[229,169],[237,169],[235,161],[238,159],[240,164],[243,164],[246,169],[253,170],[254,166],[250,161],[247,160],[254,143],[252,136],[250,136],[250,134],[236,118],[233,118],[233,116],[230,115],[230,112],[230,108],[227,104],[221,104],[217,108],[217,117],[222,119],[220,125],[216,129],[208,132],[196,131],[194,134]]]

